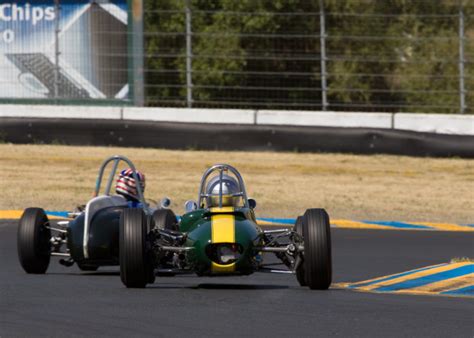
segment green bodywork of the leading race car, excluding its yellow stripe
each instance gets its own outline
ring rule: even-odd
[[[219,214],[222,213],[219,212]],[[255,247],[262,245],[260,236],[262,230],[256,223],[253,210],[241,208],[235,209],[229,214],[234,215],[235,219],[235,243],[240,244],[243,248],[232,273],[213,272],[212,261],[206,254],[207,245],[212,244],[212,212],[209,209],[198,209],[181,217],[180,231],[187,234],[184,246],[194,248],[187,254],[187,260],[198,275],[248,275],[257,269],[259,254]]]

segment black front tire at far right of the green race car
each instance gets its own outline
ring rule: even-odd
[[[308,209],[303,216],[306,285],[326,290],[332,281],[331,228],[324,209]]]

